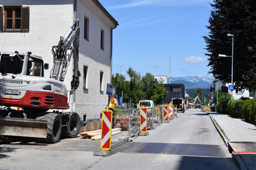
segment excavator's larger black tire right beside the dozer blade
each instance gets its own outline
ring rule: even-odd
[[[47,137],[46,138],[36,138],[37,142],[43,143],[56,143],[59,141],[61,129],[62,129],[62,120],[59,114],[49,113],[44,116],[37,117],[39,120],[47,121]]]

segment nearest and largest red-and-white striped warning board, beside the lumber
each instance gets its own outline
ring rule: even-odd
[[[111,149],[112,110],[102,111],[101,150]]]

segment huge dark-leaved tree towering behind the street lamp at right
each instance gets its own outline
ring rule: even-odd
[[[255,0],[214,0],[209,18],[206,42],[209,74],[225,83],[231,83],[230,57],[234,35],[233,82],[236,88],[256,91],[256,3]]]

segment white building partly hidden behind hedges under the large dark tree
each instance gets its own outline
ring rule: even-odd
[[[221,81],[214,81],[213,82],[213,92],[215,92],[218,88],[221,88],[221,86],[229,86],[231,85],[230,84],[225,84],[225,83],[222,83]],[[227,91],[229,92],[230,94],[232,93],[231,90]],[[243,89],[239,89],[239,88],[236,88],[234,86],[234,90],[233,90],[233,99],[239,99],[241,96],[244,96],[244,97],[249,97],[250,99],[253,98],[253,92],[249,92],[248,90],[243,90]],[[219,101],[220,102],[220,101]]]

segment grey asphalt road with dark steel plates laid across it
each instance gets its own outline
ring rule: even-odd
[[[178,112],[178,118],[148,132],[114,146],[118,153],[109,157],[93,156],[100,141],[77,137],[49,145],[22,138],[0,145],[0,169],[239,169],[210,117],[199,109]]]

